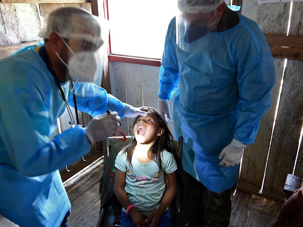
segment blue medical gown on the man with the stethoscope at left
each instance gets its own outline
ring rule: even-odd
[[[85,155],[90,143],[81,126],[49,141],[66,107],[33,47],[0,61],[0,78],[0,214],[21,227],[60,226],[71,205],[58,169]],[[69,82],[62,85],[73,106]],[[103,88],[95,97],[81,94],[89,86],[78,89],[79,110],[123,116],[124,104]]]

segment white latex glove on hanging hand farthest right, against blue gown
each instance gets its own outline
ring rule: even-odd
[[[219,159],[222,159],[220,166],[229,167],[238,165],[241,162],[245,144],[233,139],[220,153]]]

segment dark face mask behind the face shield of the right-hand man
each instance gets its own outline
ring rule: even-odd
[[[194,22],[188,23],[187,28],[185,29],[185,37],[184,41],[186,43],[191,43],[193,41],[198,40],[199,38],[202,38],[205,36],[209,31],[210,27],[215,24],[217,19],[213,21],[215,14],[212,15],[211,20],[209,21],[207,26],[199,26],[195,24]],[[212,22],[213,21],[213,22]]]

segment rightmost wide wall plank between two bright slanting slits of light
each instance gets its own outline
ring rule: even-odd
[[[289,35],[303,35],[302,6],[302,2],[293,4]],[[303,123],[302,72],[303,61],[287,61],[264,182],[264,188],[273,192],[281,193],[286,176],[295,165]],[[297,163],[297,168],[301,169],[301,164]]]

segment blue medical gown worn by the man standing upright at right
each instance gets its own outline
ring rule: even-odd
[[[183,136],[186,172],[213,192],[231,188],[238,166],[223,168],[219,154],[233,138],[254,143],[259,120],[271,103],[275,83],[271,52],[261,28],[239,15],[239,24],[176,45],[169,24],[159,73],[160,99],[174,100],[175,136]]]

